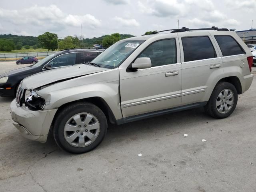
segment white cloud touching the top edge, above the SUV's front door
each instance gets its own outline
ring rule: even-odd
[[[186,6],[177,0],[148,0],[145,3],[138,2],[138,7],[142,13],[158,16],[184,16],[186,14]],[[150,6],[148,6],[150,5]]]

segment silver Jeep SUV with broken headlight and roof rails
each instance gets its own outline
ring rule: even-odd
[[[168,31],[168,30],[166,30]],[[252,53],[235,32],[188,28],[116,42],[91,63],[25,78],[11,103],[30,140],[83,153],[123,124],[204,106],[214,118],[236,108],[253,79]]]

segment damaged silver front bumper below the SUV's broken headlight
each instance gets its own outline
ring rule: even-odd
[[[10,105],[14,126],[27,139],[46,142],[52,120],[58,109],[32,111],[18,107],[14,99]]]

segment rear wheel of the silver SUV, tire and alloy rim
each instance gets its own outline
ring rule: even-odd
[[[228,82],[220,82],[212,91],[210,100],[204,109],[213,118],[226,118],[235,110],[237,100],[238,94],[235,86]]]

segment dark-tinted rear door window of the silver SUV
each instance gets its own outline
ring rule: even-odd
[[[216,53],[208,36],[183,37],[184,61],[215,58]]]

